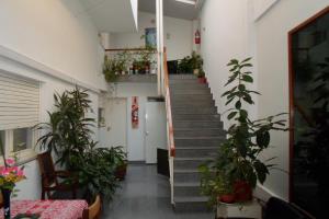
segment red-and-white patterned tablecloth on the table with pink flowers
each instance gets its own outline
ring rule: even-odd
[[[19,214],[41,214],[39,219],[78,219],[82,218],[86,200],[12,200],[11,217]],[[0,209],[3,219],[3,208]]]

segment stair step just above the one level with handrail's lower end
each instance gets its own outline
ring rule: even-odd
[[[219,145],[226,139],[226,136],[220,137],[175,137],[175,148],[185,147],[219,147]]]

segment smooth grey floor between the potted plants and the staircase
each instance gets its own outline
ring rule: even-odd
[[[156,165],[128,166],[126,180],[106,206],[106,219],[214,219],[214,214],[175,214],[170,204],[169,180]]]

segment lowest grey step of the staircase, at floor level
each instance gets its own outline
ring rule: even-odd
[[[177,212],[208,212],[208,198],[205,196],[196,197],[174,197],[174,211]]]

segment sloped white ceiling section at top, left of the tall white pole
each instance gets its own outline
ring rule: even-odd
[[[131,0],[80,0],[100,32],[134,32]]]

